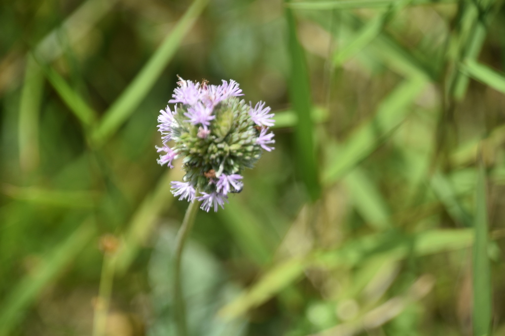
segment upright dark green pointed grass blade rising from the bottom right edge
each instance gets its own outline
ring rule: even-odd
[[[473,327],[475,336],[490,335],[492,318],[491,271],[488,257],[486,172],[479,160],[475,194],[475,244],[473,246]]]

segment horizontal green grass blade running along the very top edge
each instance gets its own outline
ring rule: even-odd
[[[333,0],[333,1],[314,1],[314,2],[291,2],[289,7],[296,10],[351,10],[361,8],[384,8],[391,6],[396,0]],[[412,6],[429,4],[450,4],[457,0],[414,0]]]

